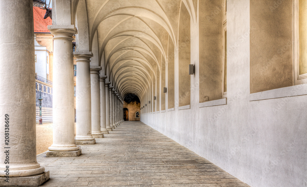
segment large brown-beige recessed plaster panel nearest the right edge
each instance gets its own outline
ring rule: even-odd
[[[251,1],[251,93],[293,85],[292,4]]]

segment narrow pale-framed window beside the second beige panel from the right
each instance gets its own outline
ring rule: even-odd
[[[223,6],[223,84],[222,84],[222,96],[227,97],[227,4],[224,0]]]

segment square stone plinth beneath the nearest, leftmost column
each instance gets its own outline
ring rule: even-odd
[[[49,180],[49,171],[28,177],[0,177],[0,186],[40,186]]]

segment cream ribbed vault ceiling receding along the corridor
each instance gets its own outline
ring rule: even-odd
[[[124,98],[133,93],[143,100],[156,89],[168,62],[168,47],[178,50],[181,6],[196,21],[197,0],[79,0],[72,3],[78,29],[77,49],[92,51],[91,65]],[[80,36],[82,35],[82,36]]]

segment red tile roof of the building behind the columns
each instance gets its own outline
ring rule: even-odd
[[[33,17],[34,17],[34,33],[50,33],[47,25],[52,25],[52,20],[50,17],[44,19],[46,10],[40,9],[33,6]]]

